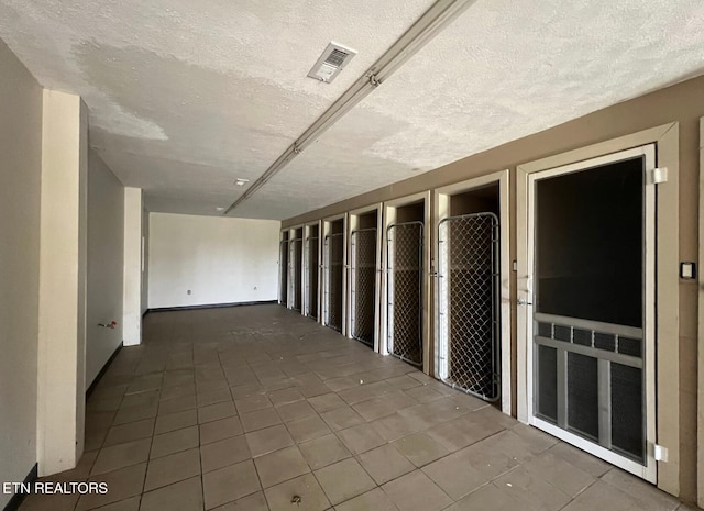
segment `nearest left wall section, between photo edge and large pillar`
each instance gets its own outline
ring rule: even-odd
[[[42,88],[2,41],[0,120],[0,481],[21,481],[36,463]]]

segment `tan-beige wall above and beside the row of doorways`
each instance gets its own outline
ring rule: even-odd
[[[454,162],[421,176],[384,187],[350,200],[299,215],[283,226],[310,222],[356,208],[408,196],[508,168],[512,196],[516,191],[516,166],[546,156],[627,135],[669,122],[680,123],[680,257],[696,260],[698,204],[698,119],[704,115],[704,77],[662,89],[535,135]],[[512,259],[516,258],[516,205],[512,203]],[[515,278],[515,276],[514,276]],[[516,282],[512,282],[515,290]],[[515,306],[514,306],[515,307]],[[681,496],[696,496],[696,281],[680,282],[680,431]],[[513,331],[514,347],[516,332]]]

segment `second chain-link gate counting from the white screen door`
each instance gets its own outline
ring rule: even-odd
[[[388,353],[422,366],[422,222],[386,231]]]

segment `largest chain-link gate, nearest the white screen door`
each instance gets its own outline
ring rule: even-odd
[[[440,222],[439,376],[486,401],[501,397],[498,218],[473,213]]]

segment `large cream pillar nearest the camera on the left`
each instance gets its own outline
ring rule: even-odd
[[[88,259],[88,111],[44,90],[36,454],[40,476],[74,468],[84,449]]]

